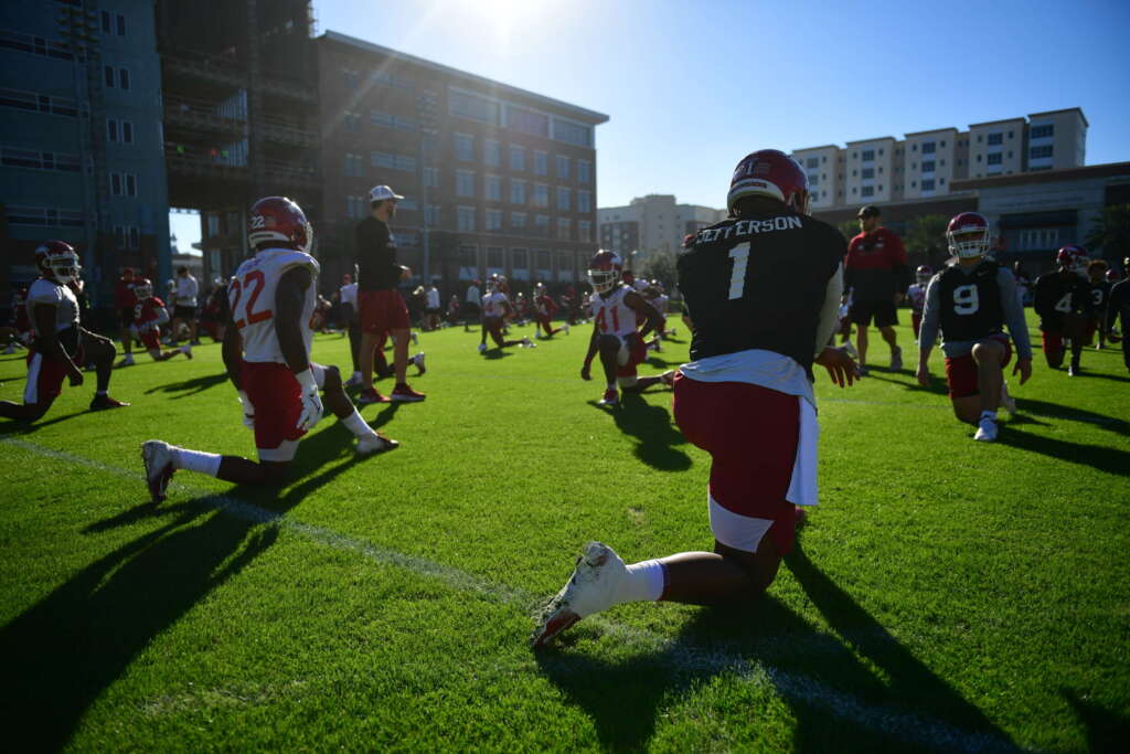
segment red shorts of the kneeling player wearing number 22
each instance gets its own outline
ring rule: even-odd
[[[306,434],[296,426],[302,416],[302,388],[294,372],[286,364],[244,362],[240,384],[255,408],[259,460],[293,459],[298,439]]]

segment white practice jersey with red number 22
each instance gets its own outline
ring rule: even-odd
[[[282,274],[295,267],[310,268],[314,278],[306,288],[299,321],[306,355],[310,355],[310,345],[314,339],[310,319],[318,303],[318,261],[302,251],[264,249],[240,266],[227,287],[232,320],[243,337],[244,361],[286,364],[275,332],[275,296]]]

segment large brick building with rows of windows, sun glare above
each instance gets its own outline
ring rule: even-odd
[[[594,129],[607,115],[337,32],[316,46],[315,233],[333,272],[351,265],[370,188],[388,184],[405,196],[401,263],[445,294],[495,272],[580,279],[597,249]]]

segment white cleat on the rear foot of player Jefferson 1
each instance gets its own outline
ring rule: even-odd
[[[599,541],[585,545],[568,583],[541,608],[530,636],[533,645],[544,647],[581,618],[615,605],[625,573],[627,566],[611,547]]]

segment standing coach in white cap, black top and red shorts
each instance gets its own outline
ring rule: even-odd
[[[397,291],[400,281],[411,276],[411,270],[397,262],[397,243],[389,229],[389,220],[397,214],[397,201],[403,197],[386,185],[373,187],[368,192],[373,214],[357,225],[357,307],[360,317],[360,363],[363,390],[357,402],[381,404],[424,400],[421,392],[412,390],[406,381],[408,369],[408,307]],[[381,336],[392,336],[393,367],[397,387],[389,398],[373,388],[373,349]]]

